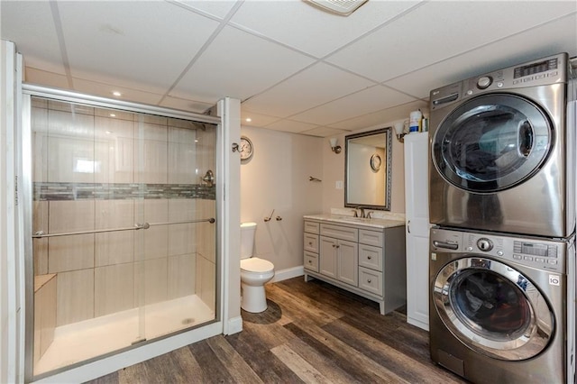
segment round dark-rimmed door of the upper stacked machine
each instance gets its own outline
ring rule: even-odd
[[[437,171],[456,187],[490,193],[530,178],[553,147],[547,115],[516,95],[472,98],[448,114],[433,139]]]

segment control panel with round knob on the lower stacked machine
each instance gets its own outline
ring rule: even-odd
[[[495,259],[564,273],[567,243],[540,238],[431,229],[431,251],[493,256]]]

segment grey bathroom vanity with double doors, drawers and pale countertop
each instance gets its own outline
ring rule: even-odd
[[[305,280],[321,279],[376,301],[382,315],[405,305],[404,223],[337,223],[325,216],[305,216]]]

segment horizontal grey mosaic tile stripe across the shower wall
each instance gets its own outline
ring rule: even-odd
[[[216,199],[216,187],[202,184],[33,183],[33,200]]]

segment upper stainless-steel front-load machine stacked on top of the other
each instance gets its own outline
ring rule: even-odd
[[[431,91],[432,224],[547,237],[573,233],[568,71],[562,53]]]

